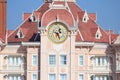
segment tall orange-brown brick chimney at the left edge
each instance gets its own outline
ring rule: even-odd
[[[0,0],[0,34],[6,34],[6,0]]]

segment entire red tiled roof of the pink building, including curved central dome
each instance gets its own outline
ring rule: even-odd
[[[54,2],[54,4],[63,4],[64,2]],[[40,8],[38,8],[34,14],[42,23],[42,26],[47,26],[50,22],[59,18],[59,21],[63,21],[67,23],[69,26],[74,26],[74,22],[77,21],[78,17],[78,29],[80,31],[76,35],[76,41],[86,41],[86,42],[108,42],[109,37],[106,31],[104,31],[97,23],[95,22],[96,16],[95,14],[88,14],[89,20],[88,22],[82,22],[82,18],[84,16],[85,11],[80,9],[76,3],[68,2],[69,8],[67,9],[50,9],[49,3],[44,3]],[[70,10],[68,10],[70,9]],[[28,17],[28,16],[26,16]],[[38,18],[39,17],[39,18]],[[102,37],[100,39],[95,38],[96,31],[100,30]],[[18,30],[21,29],[24,35],[24,38],[16,38]],[[8,42],[27,42],[27,41],[39,41],[39,36],[37,40],[35,36],[37,36],[38,32],[38,22],[30,22],[29,20],[25,20],[14,32],[9,34]],[[81,39],[81,37],[83,39]],[[117,35],[112,34],[112,41],[117,37]]]

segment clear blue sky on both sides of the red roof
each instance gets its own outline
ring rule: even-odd
[[[22,23],[23,13],[32,13],[43,0],[7,0],[7,29],[15,30]],[[97,24],[120,34],[120,0],[76,0],[88,13],[97,14]]]

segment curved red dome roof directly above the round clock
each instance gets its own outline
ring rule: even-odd
[[[42,26],[47,26],[49,23],[51,23],[53,21],[56,21],[57,18],[60,21],[68,24],[69,26],[74,26],[74,20],[72,18],[72,15],[65,9],[52,9],[52,10],[49,10],[42,17]]]

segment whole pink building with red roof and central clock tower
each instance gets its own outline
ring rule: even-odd
[[[120,79],[120,36],[75,0],[44,0],[23,18],[0,34],[0,80]]]

